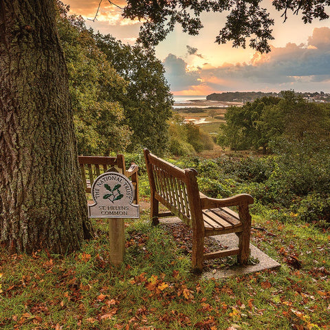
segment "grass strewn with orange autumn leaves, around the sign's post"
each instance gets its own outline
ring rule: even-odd
[[[0,327],[7,329],[330,329],[329,232],[254,217],[253,243],[276,271],[203,280],[162,226],[126,223],[123,265],[109,263],[107,219],[80,251],[0,250]]]

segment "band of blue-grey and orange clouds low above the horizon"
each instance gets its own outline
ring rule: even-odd
[[[187,91],[189,83],[195,89],[203,87],[203,90],[210,92],[329,89],[329,28],[315,28],[304,44],[287,43],[285,47],[272,47],[272,52],[268,54],[255,53],[249,63],[225,63],[218,67],[207,64],[197,68],[193,74],[187,71],[184,60],[173,56],[170,57],[171,61],[166,58],[164,64],[166,78],[173,91],[177,92]]]

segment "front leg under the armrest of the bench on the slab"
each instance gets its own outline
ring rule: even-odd
[[[246,265],[250,256],[251,215],[248,206],[239,207],[239,218],[243,223],[243,231],[237,233],[239,236],[239,254],[237,261]]]

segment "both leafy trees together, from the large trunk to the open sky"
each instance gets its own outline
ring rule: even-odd
[[[164,153],[173,99],[155,52],[94,34],[67,10],[58,1],[78,153],[109,155],[142,146]]]

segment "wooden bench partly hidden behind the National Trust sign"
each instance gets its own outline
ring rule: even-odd
[[[133,203],[139,203],[139,182],[137,178],[139,167],[136,164],[131,164],[131,167],[126,170],[124,155],[119,154],[117,157],[78,156],[78,162],[86,192],[91,192],[91,186],[96,177],[107,171],[115,171],[131,178],[134,187]]]

